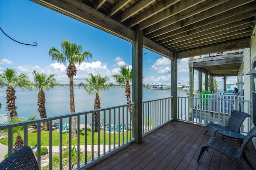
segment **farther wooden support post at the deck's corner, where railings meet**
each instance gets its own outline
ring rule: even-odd
[[[177,121],[177,53],[174,52],[173,59],[171,59],[171,96],[172,98],[172,119]]]

